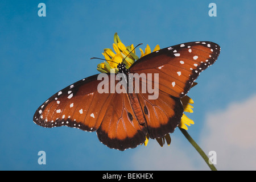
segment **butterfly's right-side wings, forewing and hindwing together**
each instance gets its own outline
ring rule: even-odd
[[[159,90],[158,98],[148,100],[152,94],[142,93],[135,86],[150,138],[161,138],[175,130],[183,115],[180,98],[188,93],[199,74],[217,60],[219,53],[220,46],[212,42],[184,43],[152,52],[130,67],[130,73],[152,74],[147,80],[135,77],[140,86]],[[155,81],[155,73],[159,81]]]

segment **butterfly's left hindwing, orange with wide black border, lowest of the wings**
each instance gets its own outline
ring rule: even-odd
[[[97,130],[98,138],[110,148],[137,147],[146,139],[146,125],[140,125],[126,93],[114,94]]]

